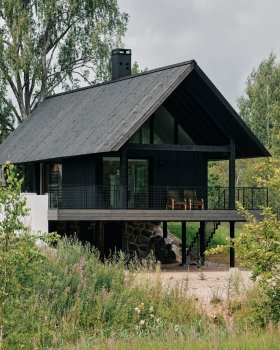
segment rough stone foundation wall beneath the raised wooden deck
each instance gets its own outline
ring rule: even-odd
[[[151,251],[164,264],[177,261],[178,247],[172,239],[163,238],[160,222],[127,222],[125,226],[125,250],[145,258]]]

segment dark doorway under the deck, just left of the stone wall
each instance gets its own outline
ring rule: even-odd
[[[122,224],[108,222],[104,224],[104,257],[122,249]]]

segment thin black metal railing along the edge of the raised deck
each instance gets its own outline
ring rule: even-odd
[[[170,209],[228,210],[226,187],[124,187],[105,185],[51,185],[49,207],[60,209]],[[237,187],[235,200],[247,209],[268,206],[268,189]]]

